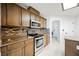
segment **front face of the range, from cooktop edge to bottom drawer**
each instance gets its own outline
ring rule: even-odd
[[[44,47],[43,35],[38,35],[35,36],[34,38],[35,38],[35,55],[38,55]]]

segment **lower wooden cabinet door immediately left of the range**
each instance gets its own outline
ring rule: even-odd
[[[30,40],[30,39],[29,39]],[[25,47],[25,55],[26,56],[33,56],[33,40],[27,41]]]

